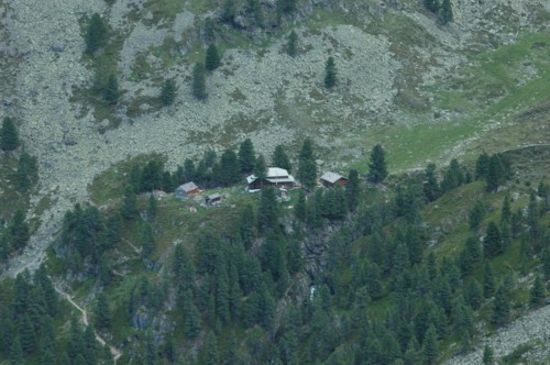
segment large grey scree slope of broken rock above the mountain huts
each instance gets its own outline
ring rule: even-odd
[[[177,54],[173,55],[176,62],[165,65],[152,47],[168,37],[185,45],[186,37],[196,36],[195,24],[216,14],[198,14],[184,7],[173,21],[153,24],[147,1],[117,0],[111,7],[102,0],[0,1],[0,118],[16,117],[25,150],[38,158],[41,186],[32,203],[46,196],[52,199],[28,252],[12,263],[10,273],[35,267],[63,213],[88,199],[88,185],[111,164],[155,152],[175,166],[206,148],[234,146],[245,137],[264,153],[276,144],[312,135],[321,148],[333,153],[332,161],[361,154],[348,151],[343,142],[398,114],[395,102],[404,91],[418,93],[420,85],[435,84],[466,60],[465,49],[495,40],[513,42],[519,29],[537,27],[531,20],[544,11],[546,3],[455,0],[455,22],[442,27],[418,1],[330,2],[344,14],[354,12],[354,19],[364,23],[298,25],[300,54],[296,58],[284,52],[284,38],[272,40],[266,47],[243,44],[242,49],[228,49],[222,67],[208,79],[208,101],[197,102],[190,97],[191,66],[178,63]],[[300,16],[316,16],[314,10],[328,4],[304,3]],[[153,78],[132,78],[136,57],[144,55],[156,73],[153,76],[175,78],[179,90],[175,106],[143,110],[135,118],[121,107],[116,112],[121,125],[99,133],[98,128],[113,121],[98,121],[89,106],[69,101],[75,89],[92,84],[94,75],[82,58],[79,22],[94,12],[102,14],[123,37],[118,64],[125,90],[122,103],[158,93]],[[136,13],[142,19],[136,20]],[[385,18],[408,19],[413,33],[425,34],[425,42],[405,44],[406,37],[372,31]],[[407,49],[402,53],[403,47]],[[184,56],[189,49],[183,46],[178,52]],[[322,87],[328,55],[336,58],[339,73],[339,85],[331,92]]]

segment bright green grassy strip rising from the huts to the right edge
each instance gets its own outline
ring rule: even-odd
[[[517,43],[472,58],[475,66],[461,74],[465,79],[452,78],[447,86],[428,88],[436,95],[441,110],[463,114],[451,121],[426,122],[416,120],[374,126],[349,142],[350,147],[370,150],[382,143],[387,151],[393,172],[424,167],[428,159],[440,162],[465,152],[463,158],[473,159],[482,151],[496,152],[526,143],[550,143],[546,106],[550,82],[550,35],[525,34]],[[535,73],[530,75],[529,73]],[[538,119],[526,119],[529,111],[538,111]],[[528,114],[530,115],[530,114]],[[409,117],[410,118],[410,117]],[[499,123],[496,130],[488,125]],[[535,132],[534,130],[538,130]],[[538,141],[534,141],[534,133]],[[470,143],[464,145],[464,141]],[[470,147],[469,147],[470,146]],[[458,151],[455,152],[454,148]],[[354,167],[366,170],[367,162]]]

